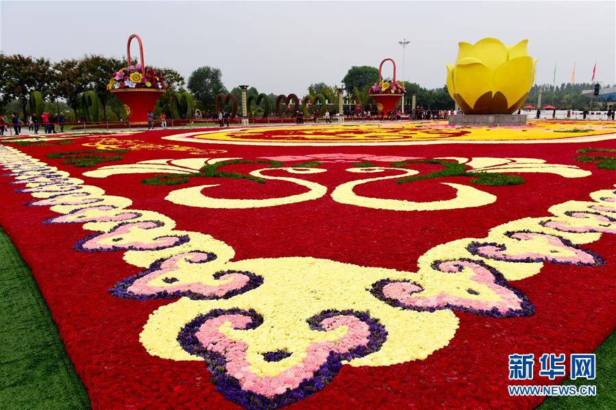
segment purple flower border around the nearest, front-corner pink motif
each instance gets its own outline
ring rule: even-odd
[[[252,321],[247,324],[246,329],[255,329],[263,322],[263,317],[254,309],[249,309],[248,311],[236,307],[232,309],[214,309],[206,314],[197,316],[197,318],[182,327],[180,334],[177,335],[177,341],[180,343],[180,346],[191,355],[203,357],[206,360],[208,370],[212,374],[212,383],[216,386],[217,391],[223,394],[227,400],[231,400],[245,409],[278,409],[312,396],[334,379],[342,368],[341,361],[369,355],[379,350],[387,337],[385,326],[383,326],[378,319],[371,318],[366,312],[353,310],[337,311],[330,309],[312,316],[307,322],[310,324],[310,329],[317,331],[325,330],[321,326],[321,322],[326,318],[338,315],[355,316],[370,326],[369,343],[367,346],[358,346],[357,348],[349,350],[349,352],[345,354],[331,351],[327,361],[310,379],[305,379],[295,389],[287,390],[283,394],[268,398],[267,396],[242,389],[238,380],[227,374],[227,361],[225,357],[219,353],[206,350],[199,342],[199,339],[197,339],[195,334],[199,331],[202,324],[212,318],[217,318],[225,314],[241,314],[252,318]]]

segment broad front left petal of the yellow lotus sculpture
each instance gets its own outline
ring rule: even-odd
[[[456,93],[473,107],[479,97],[492,90],[492,71],[481,62],[465,62],[454,67]]]

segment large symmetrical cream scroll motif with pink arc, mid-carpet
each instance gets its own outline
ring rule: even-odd
[[[128,173],[149,173],[149,172],[173,172],[174,174],[189,175],[192,172],[197,172],[204,164],[213,165],[220,164],[228,160],[235,160],[238,158],[188,158],[188,159],[153,159],[148,161],[138,162],[136,164],[123,164],[113,166],[103,166],[97,170],[85,172],[87,177],[103,178],[110,175],[121,175]],[[283,155],[277,157],[263,157],[270,161],[315,161],[323,163],[347,163],[347,162],[391,162],[401,163],[408,160],[420,159],[417,157],[398,157],[398,156],[383,156],[383,155],[360,155],[360,154],[343,154],[343,153],[330,153],[330,154],[315,154],[315,155]],[[475,158],[463,158],[463,157],[443,157],[439,160],[447,160],[453,164],[464,164],[469,167],[473,172],[482,172],[488,175],[494,175],[498,173],[511,173],[511,172],[550,172],[556,175],[560,175],[565,178],[581,178],[591,175],[591,172],[582,170],[577,166],[569,166],[563,164],[548,164],[543,159],[536,158],[494,158],[494,157],[475,157]],[[443,162],[441,161],[441,162]],[[213,188],[219,186],[219,184],[206,184],[197,185],[190,188],[182,188],[179,190],[173,190],[169,192],[167,201],[176,203],[179,205],[186,205],[190,207],[205,207],[205,208],[227,208],[227,209],[245,209],[256,207],[273,207],[279,205],[289,205],[292,203],[299,203],[303,201],[312,201],[319,199],[328,192],[328,188],[312,181],[305,181],[303,179],[289,178],[282,176],[267,175],[263,172],[268,172],[273,168],[262,168],[249,172],[249,176],[257,177],[262,180],[278,180],[286,181],[289,183],[295,183],[308,188],[308,192],[302,194],[295,194],[291,196],[282,196],[279,198],[267,198],[267,199],[232,199],[232,198],[214,198],[204,194],[206,188]],[[278,170],[284,170],[288,173],[295,175],[309,175],[319,172],[326,172],[327,170],[322,168],[293,168],[278,167]],[[406,168],[391,168],[387,166],[370,166],[360,168],[347,168],[347,172],[352,173],[379,173],[386,171],[404,172],[402,174],[388,175],[385,177],[376,177],[369,179],[359,179],[355,181],[348,181],[338,185],[331,192],[331,196],[334,201],[347,205],[355,205],[360,207],[369,207],[374,209],[391,209],[395,211],[434,211],[439,209],[458,209],[463,207],[480,207],[488,205],[497,201],[497,197],[488,192],[484,192],[477,188],[459,184],[459,183],[443,183],[452,188],[454,198],[444,201],[432,201],[432,202],[418,202],[410,200],[399,200],[391,198],[378,198],[371,196],[360,196],[354,192],[354,188],[358,185],[365,183],[371,183],[374,181],[382,181],[386,179],[400,179],[402,177],[408,177],[410,175],[417,175],[419,172],[413,169]],[[472,174],[476,175],[476,174]]]

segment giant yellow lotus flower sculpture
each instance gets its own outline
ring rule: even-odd
[[[511,114],[534,83],[528,40],[506,46],[496,38],[458,43],[456,64],[447,64],[447,90],[465,114]]]

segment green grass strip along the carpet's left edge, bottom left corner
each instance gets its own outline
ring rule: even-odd
[[[90,409],[32,272],[0,228],[0,408]]]

